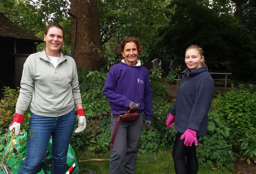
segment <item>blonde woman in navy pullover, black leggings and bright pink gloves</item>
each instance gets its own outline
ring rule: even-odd
[[[207,131],[214,82],[199,46],[191,45],[186,49],[185,63],[188,68],[184,70],[166,126],[172,127],[175,121],[178,131],[172,154],[176,174],[195,174],[198,170],[195,146]]]

